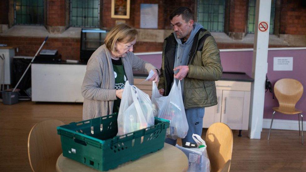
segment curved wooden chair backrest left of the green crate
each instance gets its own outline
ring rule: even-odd
[[[56,160],[62,153],[57,126],[65,125],[56,119],[36,123],[28,138],[28,155],[33,171],[56,171]]]

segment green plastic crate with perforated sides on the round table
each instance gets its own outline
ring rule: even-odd
[[[156,152],[164,147],[169,121],[155,118],[155,125],[116,136],[118,113],[57,127],[63,156],[105,171]]]

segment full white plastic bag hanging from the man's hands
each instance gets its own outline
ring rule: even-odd
[[[158,117],[170,120],[167,137],[172,139],[185,138],[188,132],[188,123],[182,98],[181,81],[173,82],[171,91],[161,103]]]

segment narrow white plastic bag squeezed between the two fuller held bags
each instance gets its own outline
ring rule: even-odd
[[[161,108],[164,100],[167,97],[162,96],[156,86],[156,83],[154,81],[152,81],[152,96],[151,96],[151,102],[153,105],[153,111],[154,111],[154,116],[158,117],[158,111]]]

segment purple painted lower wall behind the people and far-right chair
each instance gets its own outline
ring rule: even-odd
[[[252,56],[253,51],[231,51],[220,52],[223,71],[245,72],[252,76]],[[149,61],[157,68],[161,67],[161,54],[140,55],[139,57]],[[293,71],[273,71],[273,57],[293,57]],[[306,50],[269,50],[268,51],[268,78],[274,86],[275,82],[282,78],[293,78],[300,81],[306,87]],[[277,99],[272,99],[272,94],[268,91],[265,94],[264,118],[272,117],[272,107],[277,107]],[[297,109],[306,112],[306,93],[296,104]],[[284,115],[276,113],[275,119],[298,120],[297,115]]]

